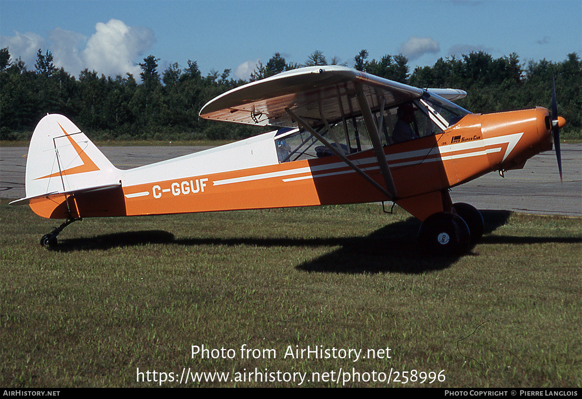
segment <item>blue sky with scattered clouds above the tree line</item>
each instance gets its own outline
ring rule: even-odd
[[[485,51],[522,63],[582,57],[582,1],[393,0],[0,0],[0,48],[34,70],[38,49],[79,76],[132,73],[149,55],[162,74],[195,61],[205,76],[248,79],[280,53],[305,63],[315,50],[353,67],[403,54],[410,72],[439,58]]]

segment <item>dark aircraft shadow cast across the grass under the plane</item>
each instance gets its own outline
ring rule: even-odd
[[[485,220],[485,236],[482,244],[539,244],[574,243],[576,237],[513,237],[487,236],[503,226],[510,211],[481,211]],[[423,273],[448,268],[459,257],[432,257],[423,254],[417,244],[417,231],[421,222],[409,218],[391,223],[365,237],[331,238],[179,238],[163,230],[127,231],[95,237],[62,240],[53,251],[72,252],[84,250],[108,250],[146,244],[195,245],[250,245],[253,247],[340,247],[337,250],[297,265],[298,270],[331,273]],[[474,251],[464,256],[478,256]]]

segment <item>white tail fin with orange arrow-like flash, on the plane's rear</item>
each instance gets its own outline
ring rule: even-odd
[[[34,129],[26,160],[26,197],[119,184],[119,170],[67,117],[51,114]]]

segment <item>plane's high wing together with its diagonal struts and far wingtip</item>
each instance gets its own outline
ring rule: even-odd
[[[280,73],[235,88],[208,102],[200,111],[205,119],[255,124],[260,126],[296,127],[299,125],[321,141],[333,154],[384,193],[398,198],[386,161],[379,126],[378,111],[421,98],[427,90],[397,83],[342,66],[315,66]],[[463,91],[440,90],[452,97]],[[385,187],[376,183],[364,170],[352,163],[314,128],[352,117],[362,117],[377,158]],[[345,123],[344,123],[345,125]]]

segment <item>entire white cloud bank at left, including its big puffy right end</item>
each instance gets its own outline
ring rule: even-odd
[[[9,47],[12,60],[22,58],[29,70],[34,70],[38,49],[48,49],[56,67],[63,67],[78,76],[88,68],[105,76],[132,73],[140,80],[141,56],[154,44],[154,32],[149,28],[127,26],[120,20],[97,23],[95,33],[86,38],[80,33],[56,28],[48,41],[36,33],[15,32],[12,37],[0,36],[0,48]],[[84,48],[83,48],[84,45]]]

